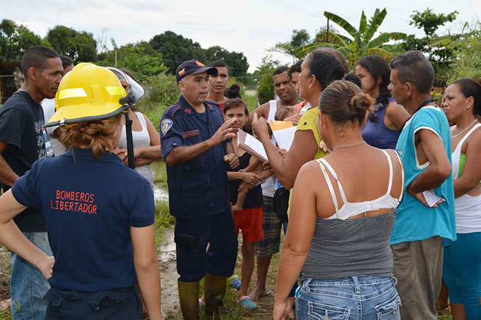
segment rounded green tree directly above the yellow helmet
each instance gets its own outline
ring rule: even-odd
[[[97,42],[90,32],[57,25],[48,31],[47,40],[59,54],[76,62],[95,61],[97,56]]]

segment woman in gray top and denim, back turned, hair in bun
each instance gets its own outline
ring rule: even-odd
[[[389,246],[403,191],[400,159],[363,140],[373,99],[354,83],[331,83],[318,105],[319,133],[332,152],[296,178],[273,317],[294,318],[287,296],[300,274],[297,320],[400,319]]]

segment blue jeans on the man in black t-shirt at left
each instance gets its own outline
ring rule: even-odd
[[[47,232],[23,232],[23,235],[46,254],[52,256]],[[12,276],[10,281],[12,319],[45,319],[47,301],[43,297],[49,289],[50,283],[44,278],[40,270],[12,252]]]

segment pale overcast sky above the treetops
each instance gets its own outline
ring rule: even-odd
[[[154,1],[154,0],[0,0],[0,18],[27,25],[40,36],[49,28],[66,25],[76,30],[100,30],[113,37],[117,45],[141,40],[172,30],[189,37],[203,48],[219,45],[229,51],[243,52],[253,71],[277,42],[289,41],[294,29],[306,29],[315,35],[325,25],[324,11],[336,13],[359,26],[361,11],[370,18],[376,8],[385,8],[388,15],[381,32],[406,32],[423,35],[409,25],[412,11],[432,8],[436,13],[457,10],[458,19],[441,32],[459,32],[465,22],[474,23],[481,15],[481,0],[407,0],[407,1]],[[335,26],[336,28],[336,26]],[[337,27],[337,30],[340,30]],[[275,59],[291,64],[282,54]]]

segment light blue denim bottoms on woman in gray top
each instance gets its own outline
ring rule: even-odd
[[[401,319],[395,278],[303,278],[297,295],[296,320]]]

